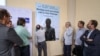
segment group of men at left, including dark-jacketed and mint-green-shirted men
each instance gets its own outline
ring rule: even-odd
[[[24,18],[18,18],[13,27],[10,13],[0,8],[0,56],[30,56],[30,33]]]

